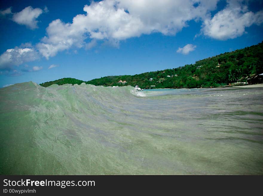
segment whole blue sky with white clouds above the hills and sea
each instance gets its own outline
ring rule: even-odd
[[[262,24],[260,0],[5,1],[0,87],[175,68],[262,42]]]

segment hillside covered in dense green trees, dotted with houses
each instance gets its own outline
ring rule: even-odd
[[[185,65],[183,67],[146,72],[136,75],[106,76],[87,81],[86,84],[103,86],[139,85],[140,88],[147,89],[215,87],[228,85],[229,83],[236,82],[237,80],[246,82],[247,79],[255,76],[256,74],[263,73],[262,62],[263,41],[262,43],[251,47],[216,55],[214,57],[196,61],[195,64]],[[171,77],[168,77],[168,75]],[[153,80],[150,81],[150,78],[153,78]],[[67,80],[65,79],[69,80],[70,78],[62,78],[52,82],[45,82],[40,85],[46,87],[51,84],[66,84]],[[120,80],[127,81],[127,83],[118,83]],[[67,83],[81,84],[81,82],[79,80],[72,79]]]

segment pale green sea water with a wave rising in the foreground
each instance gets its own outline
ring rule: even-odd
[[[0,174],[263,174],[263,88],[0,89]]]

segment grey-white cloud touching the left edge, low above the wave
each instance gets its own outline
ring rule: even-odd
[[[19,66],[22,63],[35,61],[39,54],[33,48],[15,47],[7,49],[0,56],[0,70],[12,70],[13,66]]]

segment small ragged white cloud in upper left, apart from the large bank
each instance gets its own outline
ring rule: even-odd
[[[47,10],[47,9],[46,9]],[[46,11],[45,10],[45,11]],[[35,8],[28,6],[18,13],[14,13],[13,21],[18,24],[24,24],[30,29],[36,29],[38,21],[36,18],[43,13],[43,10],[40,8]]]

